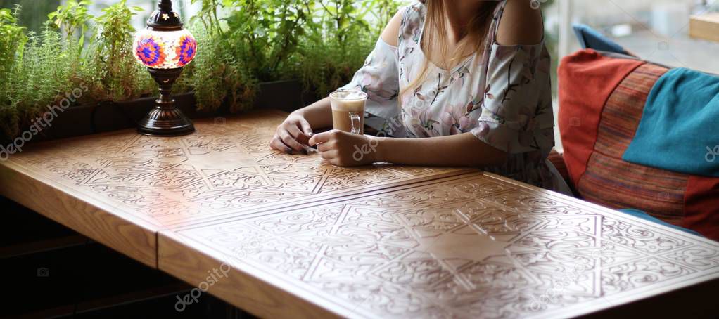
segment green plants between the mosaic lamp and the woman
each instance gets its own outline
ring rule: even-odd
[[[180,86],[193,88],[200,108],[233,111],[252,105],[260,81],[298,78],[321,96],[344,85],[381,30],[365,18],[386,23],[397,9],[393,0],[197,1],[200,49]]]

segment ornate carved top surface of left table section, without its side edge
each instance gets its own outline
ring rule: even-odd
[[[268,143],[283,118],[265,112],[197,121],[197,133],[187,137],[124,131],[50,142],[16,154],[12,161],[158,226],[463,171],[393,165],[343,168],[325,164],[318,154],[274,152]]]

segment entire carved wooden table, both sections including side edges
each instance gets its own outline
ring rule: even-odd
[[[0,191],[267,317],[567,317],[719,278],[715,241],[503,177],[272,152],[283,116],[38,144]]]

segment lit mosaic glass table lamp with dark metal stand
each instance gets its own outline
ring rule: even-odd
[[[171,96],[175,80],[197,52],[197,42],[183,28],[180,15],[173,11],[172,1],[160,0],[157,10],[147,20],[147,28],[135,37],[132,52],[160,85],[160,98],[145,119],[139,121],[137,131],[154,136],[178,136],[195,131],[192,121],[175,108]]]

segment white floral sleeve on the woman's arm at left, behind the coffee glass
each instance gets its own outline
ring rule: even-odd
[[[365,60],[365,65],[354,73],[352,81],[341,88],[367,93],[365,112],[368,119],[365,123],[378,130],[383,129],[386,121],[395,119],[399,114],[397,64],[397,47],[380,38]]]

